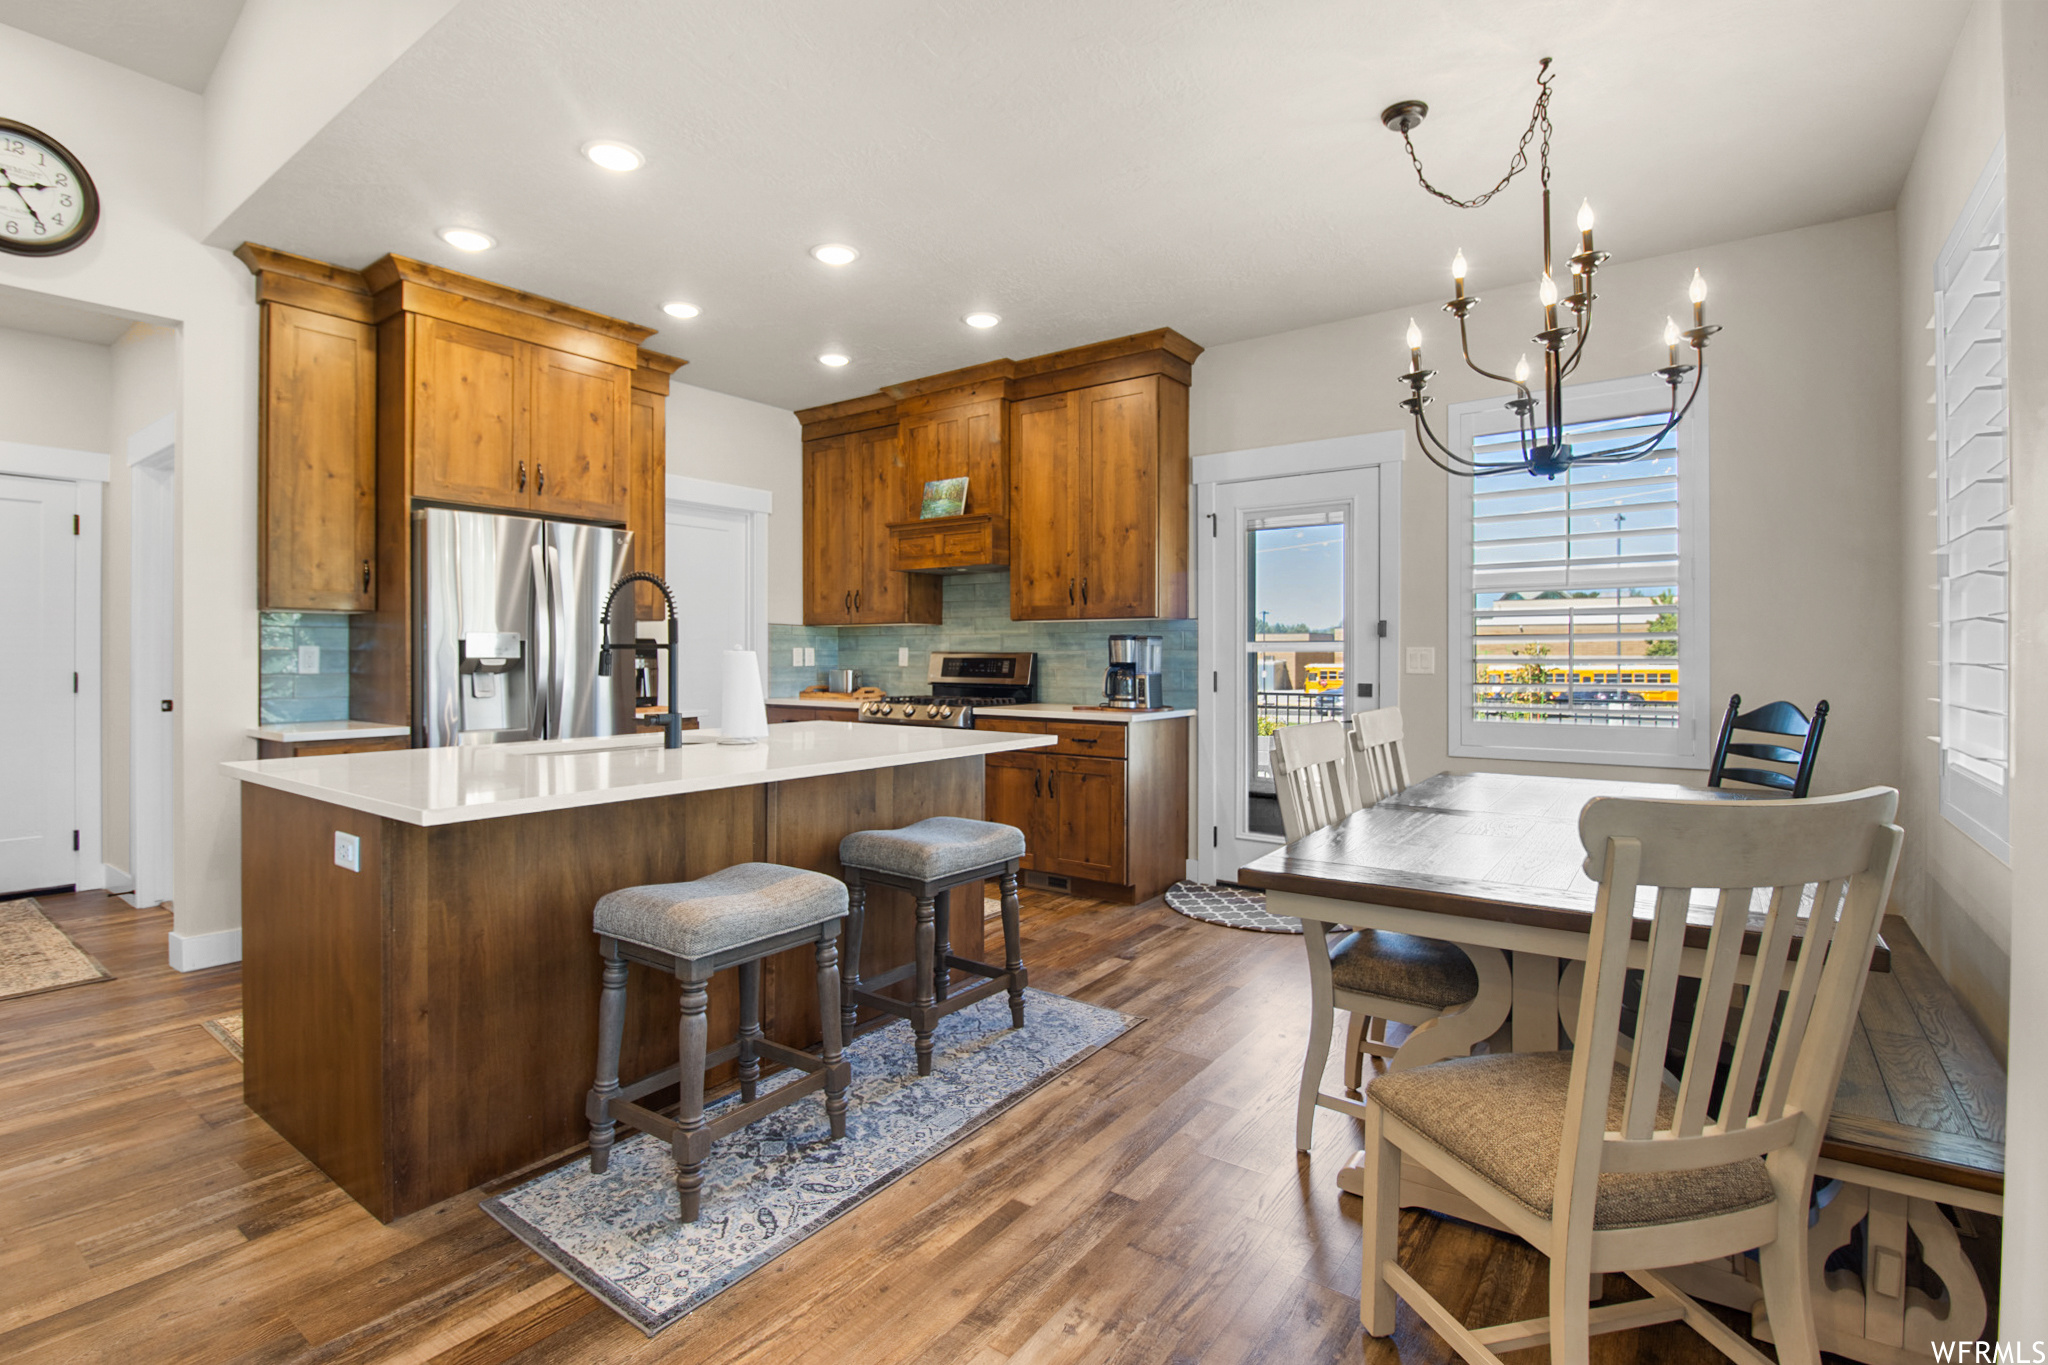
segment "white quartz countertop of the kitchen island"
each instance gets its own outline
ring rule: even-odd
[[[682,792],[797,782],[940,759],[1038,749],[1051,735],[938,731],[909,724],[807,720],[770,724],[752,745],[686,731],[680,749],[659,735],[457,745],[221,763],[229,778],[408,825],[455,825],[537,810],[602,806]]]

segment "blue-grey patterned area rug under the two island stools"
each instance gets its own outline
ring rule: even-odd
[[[653,1336],[1137,1023],[1026,990],[1024,1027],[1012,1029],[1010,997],[993,995],[940,1019],[932,1074],[918,1076],[909,1021],[897,1019],[846,1050],[846,1138],[831,1142],[819,1095],[721,1138],[694,1224],[676,1220],[676,1162],[651,1134],[614,1146],[604,1175],[575,1160],[483,1212]]]

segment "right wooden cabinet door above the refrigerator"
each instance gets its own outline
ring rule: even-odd
[[[627,407],[633,370],[547,346],[524,346],[532,403],[526,456],[532,510],[627,520]]]

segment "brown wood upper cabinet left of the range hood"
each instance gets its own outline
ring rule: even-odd
[[[803,442],[803,622],[881,626],[940,620],[940,585],[891,565],[901,505],[895,426]]]

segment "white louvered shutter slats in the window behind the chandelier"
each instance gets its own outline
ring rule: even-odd
[[[1575,456],[1649,440],[1665,413],[1567,428]],[[1513,458],[1513,430],[1477,434],[1473,458]],[[1473,481],[1475,720],[1679,724],[1683,573],[1675,432],[1624,465]]]

